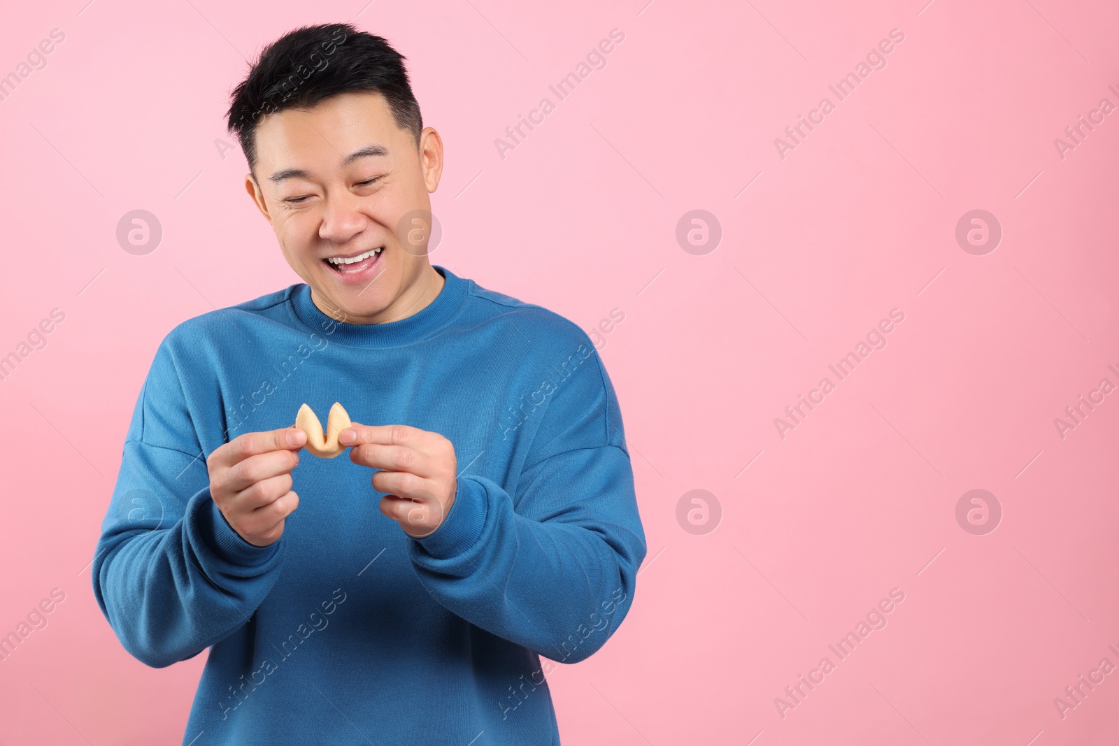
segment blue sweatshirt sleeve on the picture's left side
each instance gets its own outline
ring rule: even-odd
[[[285,546],[284,537],[266,547],[245,541],[210,498],[168,339],[137,399],[92,570],[124,649],[157,668],[245,624],[279,577]]]

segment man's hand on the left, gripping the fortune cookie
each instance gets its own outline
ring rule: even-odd
[[[283,535],[284,519],[299,506],[291,470],[307,434],[295,427],[245,433],[206,460],[210,497],[245,541],[266,547]]]

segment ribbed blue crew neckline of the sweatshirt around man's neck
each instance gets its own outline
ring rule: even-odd
[[[446,267],[432,265],[443,276],[443,286],[431,303],[397,321],[356,324],[337,321],[319,310],[311,300],[311,286],[291,286],[288,308],[295,321],[331,342],[349,347],[397,347],[419,342],[446,327],[458,315],[467,296],[469,282]]]

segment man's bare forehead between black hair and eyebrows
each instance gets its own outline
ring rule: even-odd
[[[370,144],[392,155],[407,130],[396,125],[382,94],[346,93],[309,108],[273,112],[254,134],[257,162],[271,173],[275,168],[310,170],[316,162],[340,166],[346,155]]]

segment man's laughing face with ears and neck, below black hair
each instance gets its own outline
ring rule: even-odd
[[[417,149],[384,96],[351,93],[269,114],[255,140],[256,178],[246,174],[245,187],[319,310],[383,323],[439,293],[424,229],[443,166],[439,133],[425,129]]]

